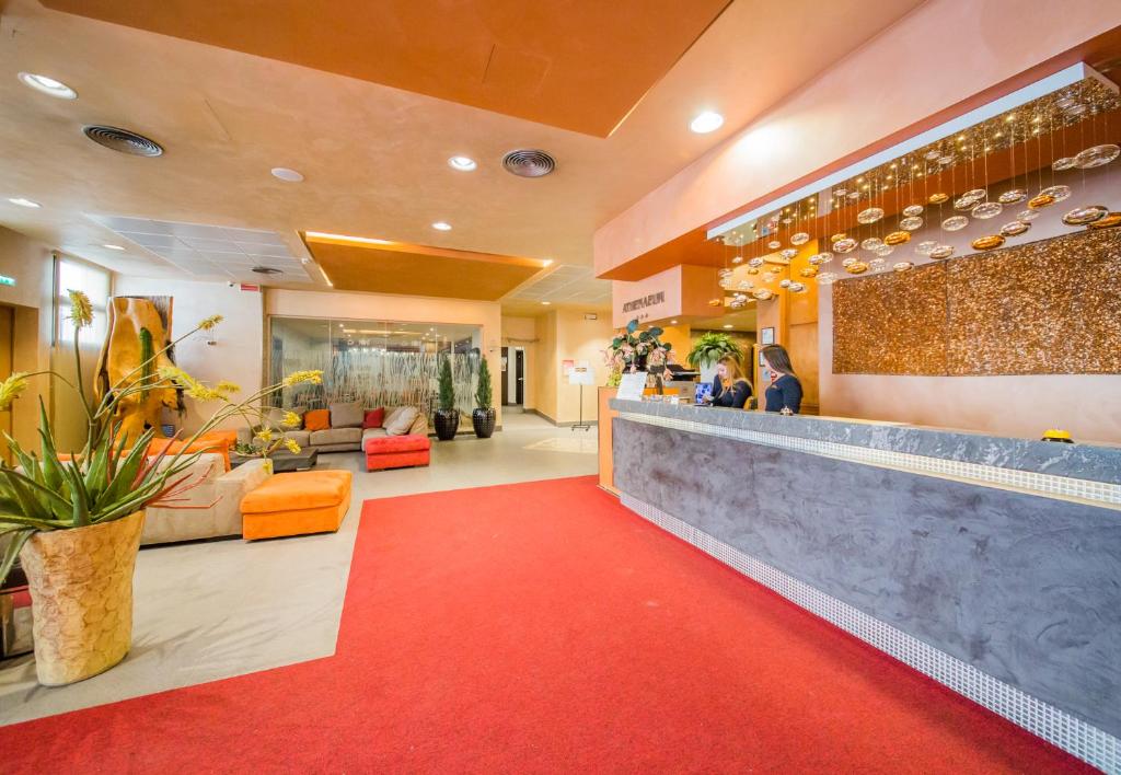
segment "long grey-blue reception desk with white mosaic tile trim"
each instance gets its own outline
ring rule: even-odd
[[[1121,449],[611,402],[621,501],[1121,771]]]

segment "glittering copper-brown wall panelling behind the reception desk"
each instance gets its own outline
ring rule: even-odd
[[[833,286],[833,372],[1121,373],[1121,230]]]

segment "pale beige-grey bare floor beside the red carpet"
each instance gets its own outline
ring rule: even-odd
[[[367,473],[358,452],[321,455],[322,468],[355,471],[339,533],[146,548],[126,661],[61,689],[35,682],[30,657],[0,662],[0,725],[328,656],[363,500],[595,473],[583,449],[594,433],[510,413],[490,440],[434,441],[428,468]]]

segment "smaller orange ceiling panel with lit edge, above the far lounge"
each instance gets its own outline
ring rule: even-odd
[[[494,302],[544,267],[541,261],[421,245],[370,245],[304,236],[336,290]]]

